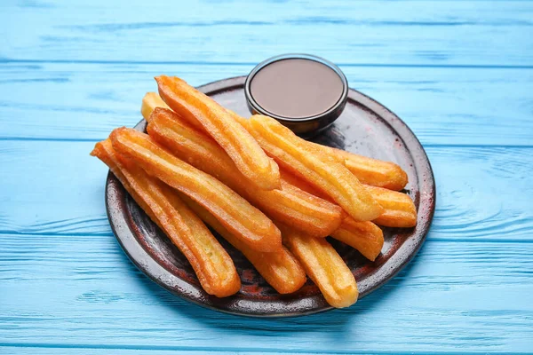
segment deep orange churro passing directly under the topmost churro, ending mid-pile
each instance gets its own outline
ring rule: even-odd
[[[166,146],[172,154],[217,177],[269,217],[314,237],[330,235],[343,219],[342,209],[337,205],[285,181],[280,189],[255,188],[235,169],[234,162],[212,138],[195,130],[171,110],[156,108],[149,118],[147,130],[151,138]]]

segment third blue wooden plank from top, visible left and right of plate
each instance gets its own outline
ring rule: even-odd
[[[92,142],[0,141],[0,233],[111,235],[105,165]],[[429,148],[437,209],[429,238],[533,241],[531,148]]]

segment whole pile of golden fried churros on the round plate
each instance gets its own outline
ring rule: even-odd
[[[308,276],[331,306],[354,304],[354,275],[326,237],[374,261],[384,242],[378,225],[417,223],[400,192],[407,174],[308,142],[271,117],[244,119],[177,77],[155,81],[159,94],[141,106],[147,133],[117,128],[91,155],[187,257],[205,292],[241,288],[214,230],[280,294]]]

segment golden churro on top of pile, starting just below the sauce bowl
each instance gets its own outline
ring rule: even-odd
[[[383,212],[344,165],[322,158],[319,150],[309,149],[306,141],[280,122],[256,114],[251,116],[249,126],[254,138],[276,162],[327,193],[355,220],[372,220]]]

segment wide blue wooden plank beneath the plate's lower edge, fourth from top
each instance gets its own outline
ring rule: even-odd
[[[386,353],[533,346],[533,243],[429,240],[354,307],[293,319],[188,304],[142,275],[111,236],[2,234],[0,260],[4,345]]]

